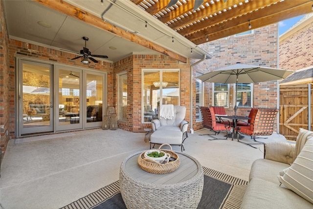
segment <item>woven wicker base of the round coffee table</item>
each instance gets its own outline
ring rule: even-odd
[[[127,172],[126,167],[129,166],[126,165],[126,162],[128,159],[141,154],[142,152],[135,153],[121,164],[119,175],[121,195],[128,209],[197,209],[202,195],[204,178],[202,167],[196,159],[183,154],[192,159],[198,167],[192,178],[175,184],[157,184],[148,183],[144,178],[139,180],[139,177],[134,178]],[[137,169],[140,170],[140,168]],[[181,176],[183,172],[188,173],[188,171],[181,170],[177,175]],[[166,177],[175,175],[175,173],[151,175],[165,175],[164,177]]]

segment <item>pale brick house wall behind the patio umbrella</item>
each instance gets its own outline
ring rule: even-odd
[[[196,71],[206,73],[220,68],[234,65],[236,62],[248,65],[277,68],[278,62],[278,24],[271,24],[257,28],[254,34],[243,36],[229,36],[224,39],[201,45],[213,58],[194,66]],[[277,81],[269,81],[253,85],[253,106],[277,108]],[[205,83],[204,106],[212,106],[212,83]],[[194,92],[195,93],[195,92]],[[234,112],[234,85],[230,85],[230,108],[226,108],[228,115]],[[250,108],[238,108],[238,115],[248,115]],[[194,123],[195,124],[195,123]],[[194,125],[194,129],[201,128],[201,122]]]

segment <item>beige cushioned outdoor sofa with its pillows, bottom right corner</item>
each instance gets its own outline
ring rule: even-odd
[[[295,144],[264,149],[264,159],[252,163],[241,208],[313,209],[313,132],[300,128]]]

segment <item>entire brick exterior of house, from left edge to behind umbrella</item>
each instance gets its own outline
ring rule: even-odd
[[[1,13],[3,15],[3,12]],[[1,20],[3,20],[1,18]],[[2,23],[2,22],[1,22]],[[5,28],[5,27],[2,27]],[[48,61],[52,63],[61,63],[68,66],[77,66],[85,69],[100,70],[108,73],[107,101],[108,106],[115,107],[118,104],[117,98],[117,73],[126,71],[128,78],[128,107],[127,121],[118,121],[118,128],[131,131],[143,132],[144,128],[149,128],[149,123],[141,121],[141,79],[142,69],[180,69],[180,105],[186,106],[185,119],[190,121],[190,60],[187,64],[180,63],[177,60],[165,55],[131,55],[116,63],[107,63],[100,61],[98,64],[83,64],[79,60],[71,60],[75,55],[58,51],[55,49],[37,46],[17,40],[8,40],[1,32],[1,48],[6,48],[5,53],[1,54],[1,125],[10,127],[11,137],[15,136],[15,57],[28,57],[31,59]],[[260,41],[261,40],[261,41]],[[242,62],[246,64],[265,65],[268,67],[277,66],[277,24],[269,25],[255,30],[255,34],[241,37],[228,37],[214,42],[209,42],[202,46],[204,50],[213,55],[210,60],[205,60],[193,67],[193,129],[202,128],[201,123],[196,123],[195,119],[195,77],[196,71],[208,72],[218,68]],[[6,57],[6,58],[5,58]],[[196,62],[192,60],[192,63]],[[7,64],[5,64],[7,63]],[[3,67],[2,67],[3,66]],[[6,73],[6,75],[4,75]],[[8,79],[3,79],[7,76]],[[5,80],[5,81],[4,81]],[[2,86],[7,86],[3,89]],[[10,91],[9,91],[10,90]],[[2,94],[3,92],[3,94]],[[4,95],[7,95],[7,101],[4,101]],[[212,105],[211,84],[205,84],[204,105]],[[233,88],[230,92],[231,101],[233,97]],[[254,106],[255,107],[276,107],[277,92],[276,83],[268,82],[254,85]],[[3,108],[7,108],[4,111]],[[227,110],[232,113],[233,107]],[[8,116],[3,116],[4,112]],[[248,114],[248,109],[239,109],[239,114]],[[4,121],[4,118],[7,118]],[[1,126],[2,127],[2,126]],[[190,126],[189,126],[190,127]],[[7,142],[6,142],[7,143]],[[5,149],[3,142],[3,149]],[[1,129],[1,148],[2,148],[2,129]]]

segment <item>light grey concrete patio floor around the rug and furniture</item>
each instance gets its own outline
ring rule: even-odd
[[[248,180],[251,164],[263,158],[263,145],[237,140],[208,140],[202,129],[188,134],[184,153],[202,166]],[[223,138],[224,133],[218,135]],[[250,137],[242,139],[251,142]],[[273,134],[261,141],[286,141]],[[166,147],[164,147],[166,148]],[[92,129],[11,139],[1,165],[3,209],[58,209],[119,179],[123,159],[149,149],[144,133]],[[179,146],[173,146],[180,151]]]

